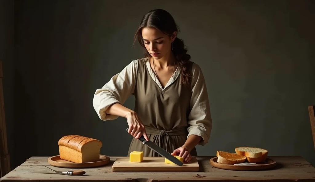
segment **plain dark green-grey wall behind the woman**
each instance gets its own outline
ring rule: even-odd
[[[1,0],[0,8],[12,168],[58,155],[69,134],[101,140],[102,154],[127,155],[126,119],[100,120],[92,99],[142,57],[133,36],[156,8],[174,16],[206,78],[213,129],[198,155],[255,146],[315,165],[307,111],[315,105],[313,1]],[[134,98],[125,105],[133,108]]]

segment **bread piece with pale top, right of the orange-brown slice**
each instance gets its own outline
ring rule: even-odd
[[[248,162],[264,162],[267,158],[268,151],[257,147],[236,147],[235,152],[245,156]]]

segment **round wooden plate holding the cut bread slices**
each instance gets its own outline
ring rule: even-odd
[[[235,171],[255,171],[273,168],[277,165],[277,162],[266,158],[265,163],[253,164],[253,165],[232,165],[232,164],[221,164],[217,162],[218,157],[210,159],[210,164],[215,168],[235,170]]]

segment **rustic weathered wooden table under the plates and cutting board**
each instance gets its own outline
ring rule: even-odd
[[[72,169],[50,166],[47,163],[48,157],[31,157],[1,178],[0,181],[315,181],[315,168],[299,156],[270,156],[269,158],[276,160],[278,165],[264,171],[231,171],[214,168],[209,163],[212,157],[197,157],[200,163],[200,172],[183,173],[115,173],[112,172],[111,168],[117,157],[111,157],[111,162],[106,166],[83,169],[86,171],[84,176],[67,176],[54,173],[44,166],[60,171]]]

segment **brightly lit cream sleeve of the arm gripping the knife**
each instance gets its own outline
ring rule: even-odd
[[[138,61],[133,60],[120,73],[114,75],[102,88],[95,91],[93,107],[101,120],[117,119],[118,116],[106,114],[109,106],[115,103],[124,104],[134,93]]]

